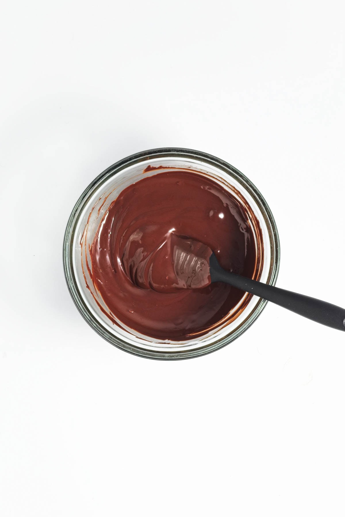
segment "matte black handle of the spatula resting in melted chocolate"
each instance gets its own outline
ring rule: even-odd
[[[260,296],[260,298],[305,316],[309,320],[345,331],[345,309],[341,307],[225,271],[219,266],[214,253],[209,259],[209,265],[211,282],[226,282],[242,291]]]

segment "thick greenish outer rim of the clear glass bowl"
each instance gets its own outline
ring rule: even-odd
[[[263,216],[265,219],[266,226],[268,228],[268,232],[270,234],[271,239],[271,253],[273,254],[273,258],[271,260],[272,269],[269,273],[268,284],[275,285],[279,264],[280,264],[280,244],[279,244],[279,235],[277,226],[272,215],[271,209],[268,207],[264,197],[257,189],[255,185],[251,183],[251,181],[238,169],[236,169],[233,165],[230,165],[228,162],[221,160],[213,155],[209,155],[208,153],[204,153],[203,151],[198,151],[194,149],[187,149],[183,147],[161,147],[156,149],[148,149],[145,151],[141,151],[140,153],[135,153],[133,155],[127,156],[122,160],[117,161],[113,165],[110,165],[106,170],[100,173],[84,190],[84,192],[79,197],[77,203],[74,205],[73,210],[68,219],[68,223],[66,226],[66,231],[64,235],[63,242],[63,265],[64,265],[64,273],[65,279],[68,286],[69,293],[72,297],[74,304],[77,309],[83,316],[84,320],[101,336],[103,339],[128,352],[130,354],[146,357],[149,359],[160,359],[160,360],[179,360],[179,359],[190,359],[193,357],[200,357],[206,354],[210,354],[215,352],[216,350],[222,348],[223,346],[228,345],[230,342],[237,339],[241,336],[253,323],[257,320],[263,309],[267,304],[267,300],[263,300],[260,298],[257,302],[256,307],[252,310],[251,314],[242,322],[242,324],[229,336],[225,338],[219,339],[215,343],[211,345],[204,345],[200,348],[196,347],[191,349],[190,351],[184,352],[159,352],[152,351],[141,347],[134,347],[133,345],[127,343],[125,340],[114,336],[114,334],[110,333],[106,328],[104,328],[94,317],[92,312],[87,307],[84,299],[81,296],[79,291],[76,277],[74,276],[73,265],[72,265],[72,253],[73,253],[73,240],[74,240],[74,232],[76,230],[76,226],[78,223],[78,218],[87,204],[88,200],[94,195],[96,189],[98,189],[105,181],[107,181],[111,176],[117,174],[123,169],[127,168],[128,165],[136,164],[139,162],[145,162],[145,160],[150,160],[152,158],[163,158],[163,157],[175,157],[175,158],[192,158],[192,159],[201,159],[202,161],[215,165],[217,168],[220,168],[223,172],[233,173],[236,176],[236,179],[239,183],[242,183],[246,189],[250,191],[250,194],[256,199],[259,203],[259,206],[263,208]]]

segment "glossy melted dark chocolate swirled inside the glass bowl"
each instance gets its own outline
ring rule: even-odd
[[[224,269],[258,278],[262,254],[253,227],[259,232],[245,202],[195,172],[172,170],[127,187],[103,216],[90,250],[91,278],[111,321],[114,316],[160,340],[202,336],[244,296],[227,284],[209,284],[202,263],[209,258],[205,250],[214,251]],[[189,239],[183,242],[177,236]],[[198,248],[194,241],[206,246]],[[188,246],[199,260],[194,272]],[[182,260],[178,269],[181,250],[186,252],[185,263]]]

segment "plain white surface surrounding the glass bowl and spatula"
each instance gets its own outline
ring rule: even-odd
[[[342,2],[3,6],[2,517],[344,515],[345,334],[269,304],[214,354],[141,359],[62,267],[95,176],[189,147],[264,195],[277,285],[345,306]]]

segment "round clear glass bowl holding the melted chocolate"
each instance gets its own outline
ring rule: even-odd
[[[153,359],[185,359],[208,354],[241,336],[267,302],[252,296],[234,318],[228,318],[196,340],[158,341],[113,324],[104,314],[107,307],[89,279],[88,246],[93,242],[104,213],[123,189],[142,179],[148,165],[153,170],[145,172],[145,177],[164,172],[164,167],[187,169],[212,177],[223,188],[242,198],[261,228],[263,260],[260,281],[275,284],[280,254],[278,232],[271,210],[258,189],[241,172],[219,158],[190,149],[161,148],[143,151],[111,165],[80,196],[64,238],[64,269],[69,292],[87,323],[104,339],[126,352]],[[155,169],[158,166],[161,168]],[[244,293],[243,299],[245,297],[248,294]]]

